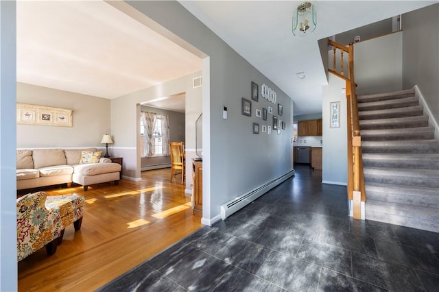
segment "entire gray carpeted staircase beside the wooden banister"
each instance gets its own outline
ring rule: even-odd
[[[439,141],[413,89],[358,97],[366,219],[439,232]]]

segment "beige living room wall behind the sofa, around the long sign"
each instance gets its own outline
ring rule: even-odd
[[[102,135],[112,134],[110,99],[17,82],[16,101],[73,110],[72,127],[16,125],[18,148],[103,147]],[[117,142],[117,136],[113,141]]]

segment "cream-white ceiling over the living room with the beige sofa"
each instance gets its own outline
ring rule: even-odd
[[[202,70],[104,1],[18,1],[16,10],[19,82],[112,99]]]

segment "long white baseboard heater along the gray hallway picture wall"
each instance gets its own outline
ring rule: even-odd
[[[254,188],[252,191],[249,191],[244,195],[236,197],[235,199],[227,202],[226,204],[222,204],[221,218],[223,220],[226,219],[227,217],[235,213],[237,210],[244,208],[258,197],[261,197],[261,195],[270,191],[272,188],[274,188],[274,186],[277,186],[278,184],[285,182],[285,180],[291,178],[293,175],[294,175],[294,169],[292,171],[288,171],[287,173],[281,176],[278,176],[277,178],[270,180],[269,182],[266,182],[261,186],[258,186],[257,188]]]

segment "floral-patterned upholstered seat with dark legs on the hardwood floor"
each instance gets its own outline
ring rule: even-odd
[[[16,200],[17,260],[46,247],[47,254],[56,252],[62,243],[64,229],[73,223],[80,230],[84,197],[45,192],[29,193]]]

